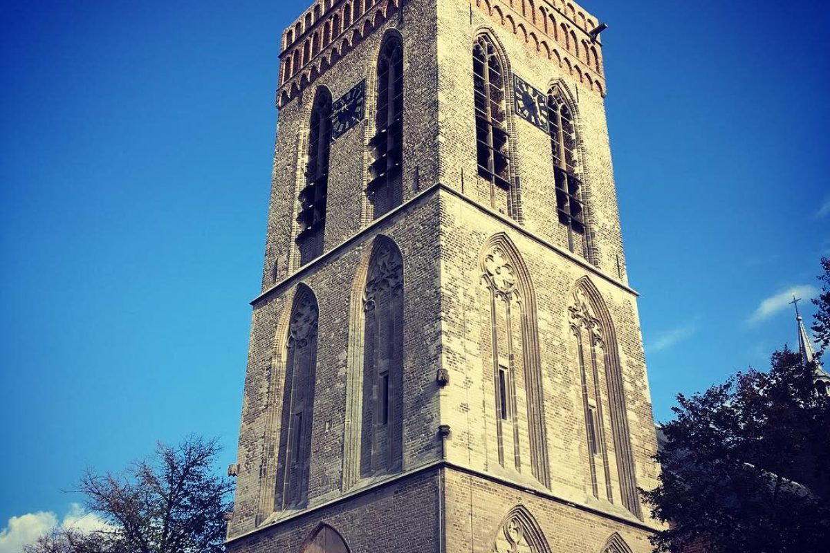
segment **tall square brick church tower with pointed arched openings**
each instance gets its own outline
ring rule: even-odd
[[[320,0],[283,33],[230,551],[651,551],[602,28]]]

